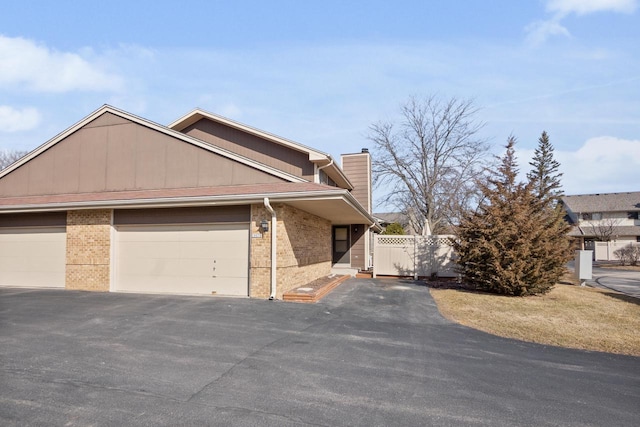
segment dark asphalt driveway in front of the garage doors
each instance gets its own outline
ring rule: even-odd
[[[428,289],[318,304],[0,289],[0,425],[637,426],[640,358],[502,339]]]

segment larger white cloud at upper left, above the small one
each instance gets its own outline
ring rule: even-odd
[[[85,54],[86,55],[86,54]],[[122,78],[77,53],[58,52],[21,37],[0,35],[0,88],[15,85],[38,92],[112,91]]]

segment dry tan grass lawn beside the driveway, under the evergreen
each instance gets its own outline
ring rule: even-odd
[[[449,320],[494,335],[561,347],[640,356],[640,300],[557,285],[535,297],[431,289]]]

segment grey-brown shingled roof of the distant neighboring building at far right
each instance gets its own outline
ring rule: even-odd
[[[640,211],[640,191],[564,196],[562,203],[575,213]]]

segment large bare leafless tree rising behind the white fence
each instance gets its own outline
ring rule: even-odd
[[[433,234],[448,230],[478,197],[476,178],[489,146],[478,136],[477,111],[471,100],[411,97],[399,122],[370,126],[374,183],[386,190],[382,203],[407,214],[418,232],[425,223]]]

